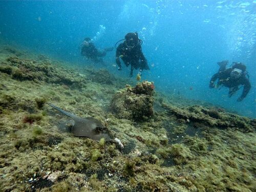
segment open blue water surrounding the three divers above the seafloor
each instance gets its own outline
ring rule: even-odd
[[[94,38],[111,47],[128,32],[139,33],[158,90],[221,105],[256,117],[256,1],[1,1],[0,38],[38,53],[84,65],[79,45]],[[242,89],[231,98],[227,88],[209,89],[217,62],[244,62],[252,88],[242,102]],[[104,58],[119,72],[115,52]]]

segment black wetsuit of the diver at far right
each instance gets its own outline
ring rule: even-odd
[[[246,74],[243,73],[241,77],[237,79],[232,79],[230,77],[230,73],[233,70],[232,67],[223,69],[220,68],[219,72],[213,75],[210,79],[210,88],[214,88],[214,82],[219,78],[217,86],[225,86],[229,88],[229,97],[231,97],[234,93],[236,93],[237,90],[239,90],[239,86],[242,85],[244,86],[243,93],[238,99],[238,101],[243,100],[248,92],[251,89],[251,84],[249,82],[249,79],[246,77]]]

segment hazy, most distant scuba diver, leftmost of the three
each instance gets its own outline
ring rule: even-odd
[[[114,49],[112,47],[112,48],[106,48],[103,50],[98,50],[94,46],[92,39],[90,37],[84,38],[80,47],[81,47],[82,56],[86,56],[87,59],[91,59],[95,63],[100,62],[102,64],[104,64],[102,58],[98,58],[98,57],[104,57],[106,55],[106,52],[113,51]]]

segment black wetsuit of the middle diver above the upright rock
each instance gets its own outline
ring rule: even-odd
[[[116,63],[119,68],[121,68],[121,62],[119,57],[123,60],[126,67],[131,65],[130,76],[133,75],[134,69],[149,70],[150,68],[147,65],[147,60],[142,53],[141,46],[137,44],[133,49],[127,48],[125,41],[121,43],[116,49]]]

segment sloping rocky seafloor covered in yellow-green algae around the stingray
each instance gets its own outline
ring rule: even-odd
[[[255,191],[256,120],[156,90],[2,46],[0,191]],[[75,137],[47,102],[124,148]]]

